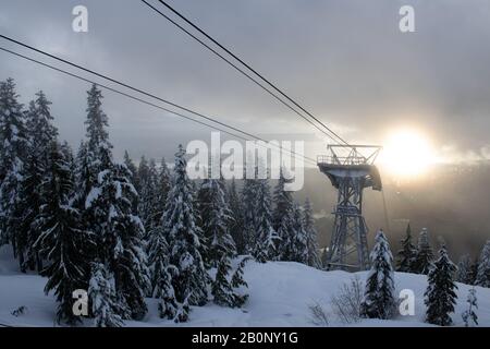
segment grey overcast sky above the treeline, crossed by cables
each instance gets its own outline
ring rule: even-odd
[[[382,143],[409,125],[446,155],[490,153],[488,0],[169,2],[350,142]],[[77,4],[88,8],[88,33],[72,31]],[[402,4],[415,8],[416,33],[400,32]],[[326,143],[140,1],[1,0],[0,32],[265,137],[303,139],[311,157]],[[23,103],[44,89],[61,137],[79,142],[87,84],[0,52],[8,76]],[[206,128],[105,95],[118,157],[124,148],[170,156],[177,143],[210,139]]]

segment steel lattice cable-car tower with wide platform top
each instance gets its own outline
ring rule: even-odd
[[[380,146],[329,145],[327,156],[318,156],[318,167],[338,189],[330,248],[324,253],[329,269],[365,270],[369,267],[368,228],[363,217],[363,191],[381,191],[381,177],[373,165]],[[359,149],[369,152],[363,155]],[[344,152],[344,156],[340,156]]]

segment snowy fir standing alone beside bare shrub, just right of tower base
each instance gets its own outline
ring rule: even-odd
[[[393,255],[382,230],[376,234],[370,260],[360,314],[368,318],[391,318],[395,309]]]

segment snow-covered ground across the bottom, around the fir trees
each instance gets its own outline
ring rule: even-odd
[[[4,252],[4,251],[3,251]],[[249,300],[244,309],[226,309],[209,303],[193,308],[191,321],[180,326],[314,326],[309,305],[321,304],[331,326],[344,326],[330,308],[331,297],[341,286],[357,275],[362,280],[366,273],[321,272],[297,263],[249,262],[245,279],[249,286]],[[16,272],[15,262],[0,253],[0,324],[11,326],[54,326],[56,301],[45,296],[46,278]],[[424,291],[427,278],[421,275],[396,273],[397,291],[415,292],[415,315],[399,316],[392,321],[364,320],[355,326],[427,326],[424,323]],[[466,309],[469,286],[457,284],[458,302],[453,314],[455,326],[462,326],[461,313]],[[477,287],[480,326],[490,326],[490,289]],[[12,311],[25,306],[26,312],[14,316]],[[158,317],[157,302],[148,300],[149,312],[142,322],[126,322],[126,326],[175,326]],[[90,325],[90,322],[86,322]]]

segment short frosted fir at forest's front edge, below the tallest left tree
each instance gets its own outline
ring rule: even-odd
[[[102,263],[94,263],[88,298],[96,327],[121,327],[123,321],[115,296],[115,281]]]

